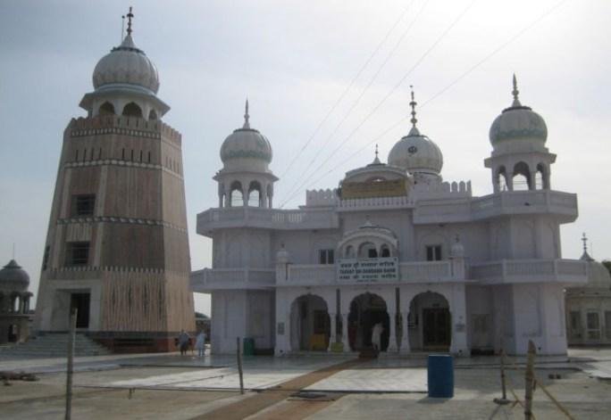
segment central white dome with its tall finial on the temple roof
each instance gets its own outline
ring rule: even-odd
[[[412,177],[414,184],[433,185],[441,182],[443,155],[439,146],[416,128],[414,91],[412,91],[412,129],[393,146],[389,152],[389,165],[405,169]]]

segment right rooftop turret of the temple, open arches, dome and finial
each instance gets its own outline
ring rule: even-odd
[[[550,165],[556,161],[545,147],[548,128],[537,112],[520,103],[515,75],[512,93],[514,102],[490,127],[492,153],[484,165],[492,169],[494,192],[548,190]]]

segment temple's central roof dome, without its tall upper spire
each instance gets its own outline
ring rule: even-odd
[[[437,144],[414,127],[390,150],[389,165],[403,168],[410,174],[439,175],[443,167],[443,154]]]

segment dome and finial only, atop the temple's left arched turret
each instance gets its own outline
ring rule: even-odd
[[[241,169],[267,169],[272,161],[272,144],[258,130],[250,128],[249,117],[247,102],[244,126],[234,130],[222,142],[221,160],[226,166],[239,165]]]

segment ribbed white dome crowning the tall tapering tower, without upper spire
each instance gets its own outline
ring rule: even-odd
[[[136,85],[157,93],[159,76],[155,64],[144,51],[134,45],[131,35],[123,39],[96,64],[93,73],[93,84],[96,90],[109,85]]]

